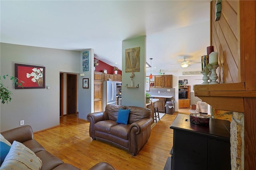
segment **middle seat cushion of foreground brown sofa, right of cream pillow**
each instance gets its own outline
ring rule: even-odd
[[[53,168],[56,168],[60,164],[64,163],[53,154],[50,154],[50,152],[47,150],[41,150],[40,152],[37,152],[36,156],[42,160],[43,165],[41,170],[52,170]]]

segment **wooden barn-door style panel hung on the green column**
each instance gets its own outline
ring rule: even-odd
[[[140,71],[140,47],[125,50],[125,72]]]

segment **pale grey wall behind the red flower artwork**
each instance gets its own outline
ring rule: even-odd
[[[1,104],[1,131],[19,127],[20,120],[34,131],[58,126],[60,114],[60,72],[80,73],[80,51],[68,51],[1,43],[1,75],[14,76],[14,63],[45,66],[45,81],[50,89],[14,89],[12,102]]]

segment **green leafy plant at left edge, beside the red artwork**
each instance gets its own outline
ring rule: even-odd
[[[8,75],[4,75],[4,76],[0,76],[0,99],[1,99],[1,103],[2,104],[8,104],[8,102],[10,102],[12,100],[11,96],[12,96],[12,92],[10,90],[8,90],[8,87],[6,87],[1,78],[6,78],[6,77],[10,77],[10,80],[13,80],[14,83],[13,84],[17,84],[19,86],[22,86],[21,82],[24,83],[23,81],[18,82],[18,78],[14,77],[14,76],[8,76]]]

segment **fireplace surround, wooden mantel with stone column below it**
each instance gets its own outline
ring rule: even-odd
[[[231,118],[230,152],[232,170],[244,169],[244,83],[194,85],[195,96],[214,107],[211,115],[218,119]],[[238,92],[239,91],[239,92]],[[241,91],[243,91],[241,93]],[[216,110],[215,110],[216,109]],[[229,115],[217,110],[228,110]],[[214,113],[215,112],[215,113]],[[231,113],[231,114],[230,114]],[[230,118],[228,118],[230,117]]]

